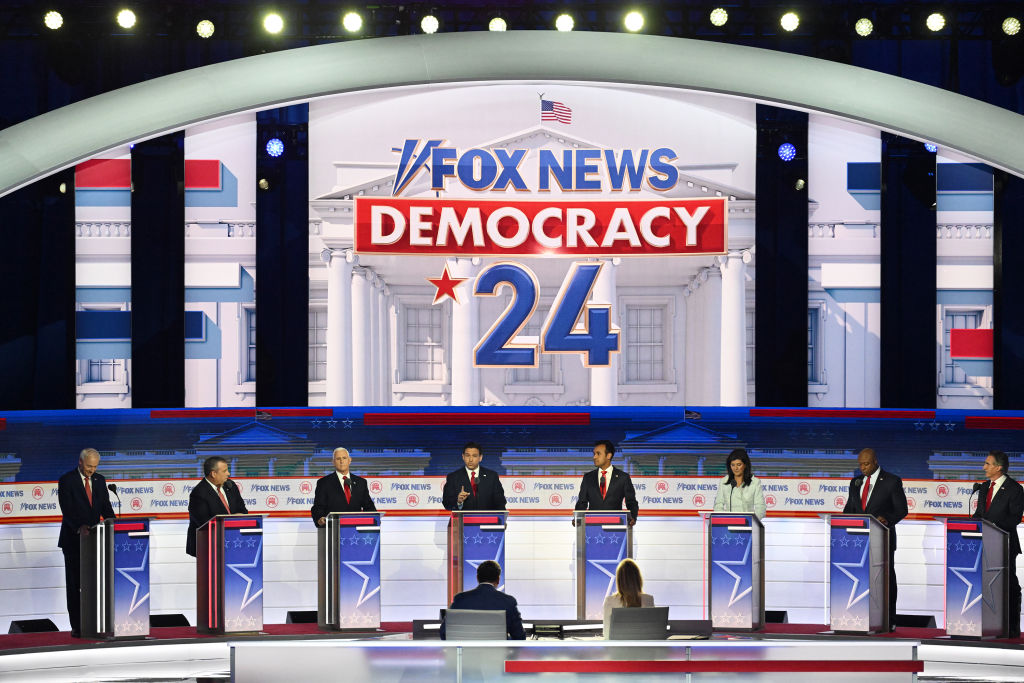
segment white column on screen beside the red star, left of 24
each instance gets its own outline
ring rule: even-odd
[[[480,403],[476,368],[473,366],[473,346],[476,344],[478,315],[477,298],[473,296],[476,285],[478,258],[447,259],[449,273],[453,278],[466,278],[456,289],[459,302],[452,305],[452,405],[478,405]]]

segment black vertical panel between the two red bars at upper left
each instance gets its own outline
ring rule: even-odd
[[[184,133],[131,152],[131,392],[136,408],[185,402]]]

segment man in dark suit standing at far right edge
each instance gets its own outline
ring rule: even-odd
[[[1021,523],[1021,515],[1024,515],[1024,487],[1007,476],[1010,459],[1001,451],[991,451],[985,458],[983,468],[988,481],[978,492],[978,509],[973,516],[987,519],[1010,535],[1010,553],[1007,556],[1007,575],[1010,578],[1008,634],[1011,638],[1020,638],[1021,584],[1017,579],[1017,556],[1021,554],[1021,542],[1017,525]]]

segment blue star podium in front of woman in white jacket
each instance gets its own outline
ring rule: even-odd
[[[714,629],[760,631],[765,625],[765,535],[758,516],[708,515],[708,605]]]

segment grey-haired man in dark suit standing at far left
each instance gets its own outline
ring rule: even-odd
[[[57,503],[62,516],[57,547],[65,556],[65,586],[73,638],[82,635],[81,537],[89,535],[90,526],[115,516],[106,493],[106,479],[96,472],[98,466],[99,452],[85,449],[78,456],[78,467],[57,481]]]

